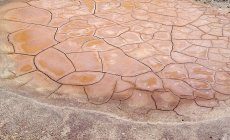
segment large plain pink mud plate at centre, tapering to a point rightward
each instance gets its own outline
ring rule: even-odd
[[[150,70],[147,66],[126,56],[120,50],[101,52],[100,55],[104,72],[121,76],[135,76]]]

